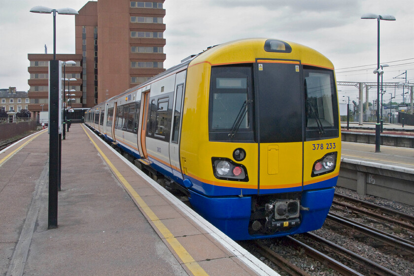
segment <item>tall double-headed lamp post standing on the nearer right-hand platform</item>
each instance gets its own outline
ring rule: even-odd
[[[361,19],[377,19],[377,124],[375,125],[375,152],[380,152],[380,20],[394,21],[395,17],[389,14],[365,13]],[[382,71],[384,72],[384,71]]]

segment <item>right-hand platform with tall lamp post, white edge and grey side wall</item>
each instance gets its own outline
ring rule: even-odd
[[[338,186],[414,206],[414,149],[343,141]]]

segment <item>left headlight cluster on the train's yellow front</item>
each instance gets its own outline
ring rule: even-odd
[[[218,179],[248,181],[247,170],[242,164],[236,164],[228,158],[211,158],[214,176]]]

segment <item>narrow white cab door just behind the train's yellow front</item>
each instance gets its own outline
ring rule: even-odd
[[[173,169],[173,175],[175,181],[181,182],[183,178],[180,166],[179,146],[180,146],[180,134],[181,134],[181,110],[184,96],[184,81],[185,71],[177,73],[175,77],[175,93],[174,93],[174,105],[173,105],[173,118],[171,127],[171,139],[170,139],[170,164]],[[181,180],[181,181],[179,181]]]

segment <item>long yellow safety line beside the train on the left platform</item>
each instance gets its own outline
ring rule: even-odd
[[[104,158],[105,162],[111,168],[113,173],[115,173],[115,175],[118,177],[118,179],[122,182],[125,189],[128,190],[130,195],[135,199],[135,201],[142,208],[142,210],[145,212],[145,214],[149,217],[149,219],[152,221],[152,223],[154,223],[154,225],[161,232],[161,234],[164,236],[166,241],[168,243],[170,243],[170,245],[171,245],[171,247],[173,247],[175,253],[177,253],[178,257],[187,266],[187,268],[191,271],[191,273],[195,276],[208,275],[204,271],[204,269],[194,260],[194,258],[191,257],[191,255],[187,252],[187,250],[185,250],[184,246],[182,246],[181,243],[178,242],[178,240],[173,236],[173,234],[170,232],[170,230],[168,230],[168,228],[164,225],[164,223],[161,222],[161,220],[151,210],[151,208],[148,207],[148,205],[146,205],[146,203],[142,200],[142,198],[138,195],[138,193],[134,190],[134,188],[128,183],[128,181],[125,179],[125,177],[121,173],[119,173],[119,171],[115,168],[115,166],[106,157],[106,155],[101,150],[101,148],[89,136],[89,134],[86,132],[85,128],[83,126],[82,126],[82,128],[85,131],[86,135],[89,137],[89,139],[94,144],[95,148],[98,150],[99,154],[101,154],[102,158]]]

